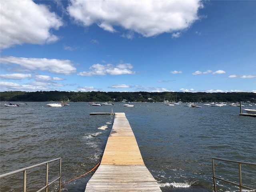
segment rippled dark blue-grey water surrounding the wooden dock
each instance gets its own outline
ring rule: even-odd
[[[90,171],[102,158],[114,120],[114,116],[90,116],[90,112],[111,112],[111,108],[126,114],[145,165],[162,188],[200,185],[213,190],[212,157],[256,163],[256,118],[239,116],[239,107],[199,104],[202,108],[189,108],[163,103],[90,106],[87,102],[71,102],[70,106],[51,108],[47,102],[28,102],[20,107],[3,104],[1,174],[58,157],[62,158],[62,186]],[[230,173],[232,166],[216,162],[216,176],[238,182],[238,166]],[[256,167],[244,166],[242,173],[243,184],[255,188]],[[39,181],[31,174],[27,191],[38,190]],[[69,182],[62,190],[83,192],[92,174]],[[57,184],[52,191],[55,188]],[[1,179],[1,192],[20,189],[22,174]],[[218,191],[238,190],[218,182]]]

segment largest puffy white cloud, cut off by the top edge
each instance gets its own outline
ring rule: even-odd
[[[186,30],[199,19],[200,0],[194,1],[80,1],[71,0],[67,8],[75,22],[83,26],[97,24],[103,30],[116,32],[121,26],[144,37],[164,32]],[[132,38],[132,35],[129,35]]]

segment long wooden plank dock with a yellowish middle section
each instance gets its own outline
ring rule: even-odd
[[[85,189],[85,192],[117,191],[162,192],[144,164],[124,113],[115,113],[102,161]]]

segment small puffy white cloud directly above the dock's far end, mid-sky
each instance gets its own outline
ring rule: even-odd
[[[78,73],[80,76],[94,76],[94,75],[122,75],[122,74],[135,74],[134,71],[131,71],[133,66],[129,63],[118,64],[116,66],[112,64],[94,64],[89,69],[90,71],[84,71]]]

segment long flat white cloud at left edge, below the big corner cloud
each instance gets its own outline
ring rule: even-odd
[[[1,64],[9,65],[12,71],[46,70],[51,73],[64,75],[70,75],[76,72],[76,68],[73,67],[70,60],[5,56],[0,58],[0,62]]]

